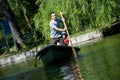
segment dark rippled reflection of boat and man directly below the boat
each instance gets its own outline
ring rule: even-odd
[[[46,80],[79,80],[73,61],[44,67]]]

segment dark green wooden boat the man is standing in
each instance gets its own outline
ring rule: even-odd
[[[74,47],[74,49],[76,53],[80,51],[80,48]],[[36,58],[39,60],[41,59],[43,65],[60,64],[74,59],[72,47],[56,45],[47,45],[43,47],[38,51]]]

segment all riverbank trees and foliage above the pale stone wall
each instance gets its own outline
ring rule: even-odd
[[[12,44],[10,47],[21,49],[43,42],[48,44],[50,12],[60,17],[62,11],[69,33],[74,35],[91,29],[106,31],[106,28],[119,23],[119,4],[119,0],[1,0],[0,21],[8,20],[12,24],[10,28],[14,36],[11,36],[13,40],[8,40]],[[2,44],[3,40],[0,28]]]

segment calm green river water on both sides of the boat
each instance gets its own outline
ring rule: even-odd
[[[120,80],[120,34],[80,47],[79,65],[84,80]],[[0,67],[0,80],[76,80],[73,62],[44,67],[34,58]]]

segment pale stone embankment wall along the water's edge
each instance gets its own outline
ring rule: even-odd
[[[73,46],[83,46],[85,44],[98,41],[99,39],[103,38],[103,34],[100,31],[93,31],[86,34],[82,34],[80,36],[72,37],[70,40],[72,41]],[[71,46],[69,44],[69,46]],[[39,51],[41,47],[33,48],[29,51],[5,56],[4,58],[0,58],[0,66],[9,65],[12,63],[17,63],[23,60],[27,60],[28,58],[34,57],[37,54],[37,51]]]

